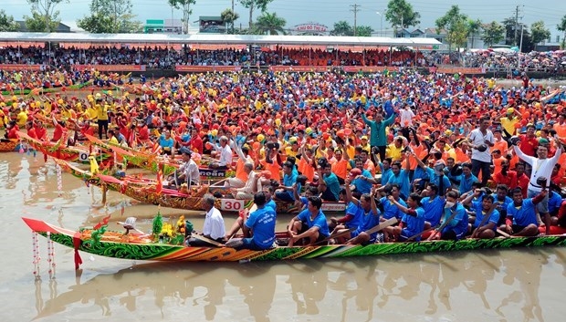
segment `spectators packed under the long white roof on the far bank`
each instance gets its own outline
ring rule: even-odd
[[[250,50],[251,49],[251,50]],[[310,48],[251,47],[246,49],[204,50],[172,47],[5,47],[0,48],[0,64],[48,65],[69,68],[84,65],[145,65],[173,69],[194,66],[428,66],[421,52],[383,49],[352,52]]]

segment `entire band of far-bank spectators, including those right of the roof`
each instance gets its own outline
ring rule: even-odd
[[[182,47],[3,47],[0,64],[44,65],[72,69],[83,65],[144,65],[147,68],[173,69],[189,66],[391,66],[433,67],[455,65],[484,68],[487,72],[539,71],[563,73],[566,51],[517,53],[508,49],[487,49],[459,53],[436,51],[324,50],[320,48],[248,47],[195,49]]]

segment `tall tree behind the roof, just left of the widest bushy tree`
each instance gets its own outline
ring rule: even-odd
[[[55,8],[63,2],[68,3],[68,0],[27,0],[27,3],[31,5],[32,15],[24,16],[27,29],[47,33],[56,30],[61,19]]]

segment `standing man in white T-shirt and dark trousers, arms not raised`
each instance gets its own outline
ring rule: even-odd
[[[477,178],[481,170],[481,183],[485,187],[491,177],[491,153],[489,148],[495,143],[495,137],[491,130],[487,130],[491,120],[488,117],[479,119],[479,128],[472,130],[467,142],[472,148],[472,174]]]

